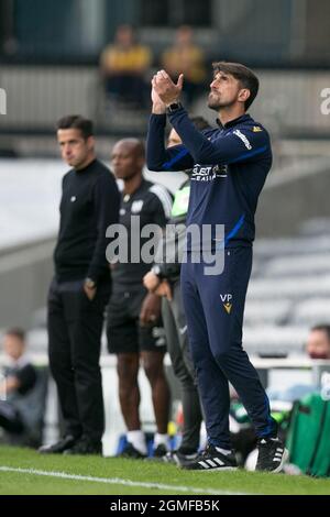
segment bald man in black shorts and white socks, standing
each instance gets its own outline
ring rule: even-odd
[[[128,231],[128,256],[134,232],[132,218],[140,217],[141,229],[146,224],[166,226],[172,209],[172,197],[165,187],[143,178],[145,150],[136,139],[116,143],[111,164],[118,179],[123,180],[120,223]],[[135,230],[135,233],[140,230]],[[134,237],[134,234],[133,234]],[[136,235],[135,235],[136,237]],[[141,255],[145,239],[141,238]],[[148,294],[142,279],[150,270],[143,258],[136,262],[119,261],[112,264],[113,290],[108,309],[108,346],[117,354],[119,399],[128,429],[128,444],[121,455],[144,458],[147,454],[145,436],[139,415],[140,388],[138,374],[140,362],[150,382],[156,420],[154,455],[166,454],[168,447],[167,425],[169,417],[169,387],[164,371],[166,342],[161,326],[161,298]]]

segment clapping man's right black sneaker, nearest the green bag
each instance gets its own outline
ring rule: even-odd
[[[288,451],[279,438],[261,438],[257,448],[256,471],[273,472],[275,474],[283,470],[283,465],[288,458]]]

